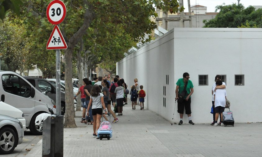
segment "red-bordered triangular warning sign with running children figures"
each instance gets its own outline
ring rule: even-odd
[[[61,31],[57,25],[55,25],[46,45],[47,50],[67,49],[67,45]]]

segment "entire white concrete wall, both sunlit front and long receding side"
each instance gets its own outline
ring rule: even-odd
[[[226,74],[226,90],[235,122],[261,122],[261,37],[262,29],[176,28],[118,62],[117,74],[129,87],[134,84],[133,78],[138,78],[147,92],[146,107],[171,121],[174,84],[188,72],[194,85],[191,103],[194,123],[212,122],[211,87],[216,74]],[[166,74],[169,85],[165,85]],[[199,74],[208,74],[208,86],[198,85]],[[244,86],[234,85],[235,74],[245,75]],[[163,107],[163,86],[166,86],[166,107]],[[187,115],[183,120],[187,123]],[[179,121],[176,111],[175,121]]]

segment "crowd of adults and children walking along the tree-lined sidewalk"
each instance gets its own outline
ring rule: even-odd
[[[124,83],[124,79],[119,78],[117,75],[114,78],[114,82],[109,85],[109,81],[107,79],[102,79],[101,76],[94,80],[94,84],[88,80],[88,78],[83,79],[83,86],[79,88],[79,92],[76,93],[74,99],[77,95],[81,93],[81,102],[83,106],[83,118],[81,119],[81,123],[88,123],[88,119],[90,122],[88,124],[93,125],[93,137],[97,137],[97,130],[99,129],[101,117],[103,116],[107,121],[105,114],[107,112],[111,113],[114,117],[114,121],[112,123],[116,123],[119,119],[116,117],[114,111],[111,110],[111,101],[113,102],[113,106],[117,106],[119,111],[118,115],[123,115],[123,106],[127,104],[127,86]],[[140,86],[140,90],[137,91],[136,86],[138,85],[137,79],[135,85],[131,88],[131,101],[132,101],[132,109],[135,110],[135,105],[137,105],[137,99],[139,98],[140,102],[140,110],[144,109],[144,101],[146,92],[143,90],[143,86]],[[127,90],[128,91],[128,90]],[[135,94],[135,95],[134,95]],[[125,96],[125,97],[124,97]],[[105,114],[103,114],[103,111]],[[109,114],[108,114],[109,115]]]

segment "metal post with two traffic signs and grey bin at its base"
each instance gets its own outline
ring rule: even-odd
[[[56,50],[56,116],[46,119],[43,124],[43,157],[62,157],[64,143],[64,116],[61,115],[61,84],[60,84],[60,49],[67,49],[59,24],[65,19],[66,5],[60,0],[53,0],[47,6],[48,21],[55,25],[47,42],[47,50]],[[50,123],[49,123],[50,122]]]

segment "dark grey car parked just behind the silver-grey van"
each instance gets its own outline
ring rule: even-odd
[[[46,94],[53,101],[56,102],[56,86],[43,78],[35,78],[35,77],[24,77],[27,81],[29,81],[38,91]],[[61,88],[63,89],[63,88]],[[64,89],[63,89],[64,91]],[[66,98],[65,92],[61,90],[61,114],[64,115],[66,112]]]

